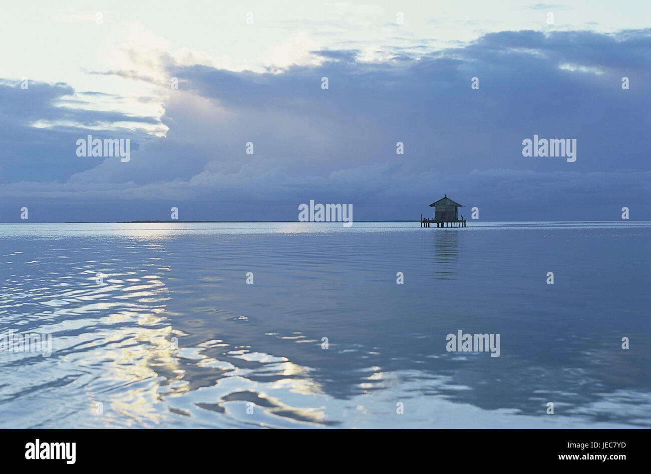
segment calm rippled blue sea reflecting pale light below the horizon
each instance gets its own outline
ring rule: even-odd
[[[1,224],[0,428],[650,427],[651,223],[419,225]]]

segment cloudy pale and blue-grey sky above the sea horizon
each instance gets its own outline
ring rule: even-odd
[[[0,222],[298,220],[310,200],[418,220],[444,194],[467,219],[651,220],[647,1],[4,10]],[[88,135],[129,161],[77,156]],[[575,161],[524,157],[534,135]]]

